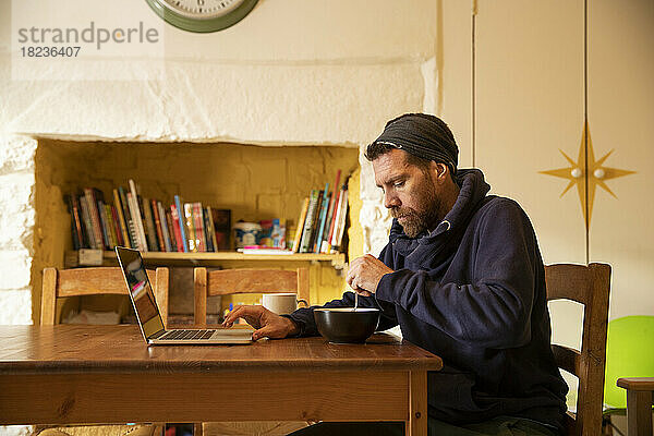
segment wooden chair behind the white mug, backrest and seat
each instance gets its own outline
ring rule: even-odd
[[[195,324],[206,325],[207,296],[237,293],[295,292],[298,301],[308,306],[308,268],[193,270],[195,286]],[[300,304],[299,303],[299,304]],[[287,435],[306,427],[306,422],[223,422],[196,423],[195,435]]]

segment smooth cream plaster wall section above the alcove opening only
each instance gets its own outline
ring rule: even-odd
[[[23,82],[11,81],[9,4],[1,124],[77,138],[363,144],[387,119],[422,110],[421,65],[434,57],[437,22],[431,0],[262,0],[223,32],[166,25],[164,71],[152,66],[160,80],[51,82],[56,69],[44,66],[40,81]],[[148,68],[114,63],[134,75]]]

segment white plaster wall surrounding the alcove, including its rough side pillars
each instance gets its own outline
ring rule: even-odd
[[[448,22],[469,19],[468,7],[445,3],[451,14]],[[63,8],[69,2],[58,4]],[[100,8],[108,7],[88,4],[97,8],[98,15]],[[152,12],[138,1],[133,13]],[[439,94],[443,77],[445,73],[465,76],[467,65],[459,61],[460,53],[451,66],[444,66],[443,53],[436,56],[444,40],[438,32],[443,13],[441,0],[261,0],[245,20],[219,33],[191,34],[165,25],[162,59],[154,53],[131,62],[82,61],[70,71],[72,80],[65,81],[51,80],[58,72],[43,64],[32,72],[36,80],[21,81],[11,75],[11,38],[15,37],[11,2],[0,0],[0,133],[13,135],[2,141],[7,152],[0,162],[0,177],[10,183],[0,189],[0,232],[5,241],[0,259],[12,270],[0,276],[0,323],[29,318],[2,304],[12,300],[29,306],[23,303],[28,301],[34,228],[29,193],[35,143],[29,137],[361,149],[390,118],[446,109]],[[458,40],[468,37],[465,27],[460,34]],[[129,69],[133,76],[145,72],[154,78],[85,80],[98,68]],[[452,106],[448,112],[453,131],[463,137],[467,110],[465,105]],[[16,140],[16,134],[23,138]],[[11,160],[12,153],[24,157],[20,169],[5,169],[4,160]],[[368,164],[361,160],[364,249],[376,253],[390,220]],[[11,207],[21,209],[20,219],[13,218]],[[5,222],[11,222],[7,230]]]

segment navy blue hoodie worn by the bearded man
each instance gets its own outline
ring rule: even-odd
[[[543,259],[532,225],[512,199],[486,195],[480,170],[461,186],[438,227],[414,239],[393,220],[379,259],[395,270],[361,306],[380,307],[378,330],[443,358],[429,372],[428,413],[452,424],[498,415],[562,428],[568,390],[550,350]],[[325,306],[352,306],[352,292]],[[294,312],[317,335],[313,307]]]

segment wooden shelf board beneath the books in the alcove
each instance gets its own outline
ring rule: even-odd
[[[98,251],[99,252],[99,251]],[[87,251],[88,253],[88,251]],[[96,259],[99,261],[99,253],[96,254]],[[331,264],[336,270],[346,268],[346,255],[343,253],[336,254],[315,254],[315,253],[294,253],[294,254],[245,254],[239,252],[215,252],[215,253],[177,253],[177,252],[144,252],[142,253],[143,262],[146,266],[220,266],[225,261],[254,261],[262,263],[324,263]],[[82,266],[117,266],[118,261],[113,251],[101,252],[100,262],[87,262],[86,256],[80,256],[80,251],[68,251],[64,256],[65,268],[76,268]]]

